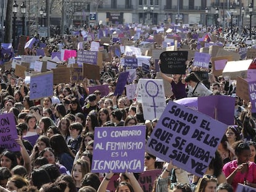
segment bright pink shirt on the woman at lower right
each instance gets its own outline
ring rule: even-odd
[[[224,164],[223,172],[226,175],[226,177],[231,175],[231,173],[233,173],[233,171],[236,170],[237,166],[238,166],[237,160],[227,162],[226,164]],[[245,172],[245,173],[237,172],[236,173],[236,175],[233,179],[233,182],[231,183],[231,185],[234,188],[234,191],[236,191],[237,184],[238,183],[243,184],[244,180],[247,180],[249,183],[256,183],[256,164],[254,162],[249,162],[248,172]]]

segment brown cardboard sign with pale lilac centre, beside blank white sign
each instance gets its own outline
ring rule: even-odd
[[[211,57],[211,69],[213,70],[213,74],[216,76],[222,75],[226,63],[232,60],[232,56]]]

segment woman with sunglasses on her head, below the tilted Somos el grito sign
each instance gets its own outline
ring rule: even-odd
[[[213,175],[203,175],[197,184],[195,192],[215,192],[217,188],[217,179]]]

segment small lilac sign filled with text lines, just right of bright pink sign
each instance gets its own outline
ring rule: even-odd
[[[79,50],[77,51],[77,63],[78,64],[97,64],[98,59],[98,51],[85,51]]]

